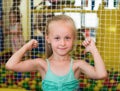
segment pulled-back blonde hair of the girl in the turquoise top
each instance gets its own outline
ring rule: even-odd
[[[64,21],[66,23],[70,23],[72,24],[72,27],[73,27],[73,35],[74,35],[74,38],[76,39],[76,26],[75,26],[75,23],[73,21],[73,19],[67,15],[57,15],[57,16],[53,16],[51,19],[49,19],[47,21],[47,25],[46,25],[46,35],[49,34],[49,25],[52,23],[52,22],[57,22],[57,21]],[[53,51],[52,51],[52,48],[51,48],[51,45],[46,41],[46,56],[47,58],[49,58],[52,54],[53,54]]]

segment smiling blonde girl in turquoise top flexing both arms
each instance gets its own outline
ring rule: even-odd
[[[103,60],[91,38],[83,41],[86,52],[91,52],[95,66],[82,60],[70,57],[76,39],[76,28],[73,20],[66,15],[54,16],[46,26],[46,41],[52,49],[46,60],[42,58],[22,61],[24,54],[38,46],[34,39],[19,49],[6,63],[6,68],[17,72],[38,71],[42,77],[43,91],[76,91],[80,74],[92,79],[103,79],[107,72]]]

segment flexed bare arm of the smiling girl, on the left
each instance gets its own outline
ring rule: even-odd
[[[34,61],[32,59],[22,61],[22,57],[28,50],[36,48],[37,46],[38,42],[36,40],[31,40],[26,43],[21,49],[19,49],[11,56],[11,58],[6,63],[6,68],[17,72],[36,71],[39,64],[39,61],[37,61],[38,59],[35,59]]]

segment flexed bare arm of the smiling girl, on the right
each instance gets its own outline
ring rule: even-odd
[[[79,68],[81,69],[81,71],[92,79],[106,78],[107,71],[94,41],[91,38],[88,38],[83,42],[83,46],[85,46],[86,52],[91,52],[91,54],[93,55],[95,66],[93,67],[84,61],[80,61]]]

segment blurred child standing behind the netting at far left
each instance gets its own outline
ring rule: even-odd
[[[9,12],[10,25],[8,31],[5,32],[5,34],[10,35],[10,43],[13,53],[15,53],[24,44],[20,19],[21,14],[19,8],[11,8]]]

